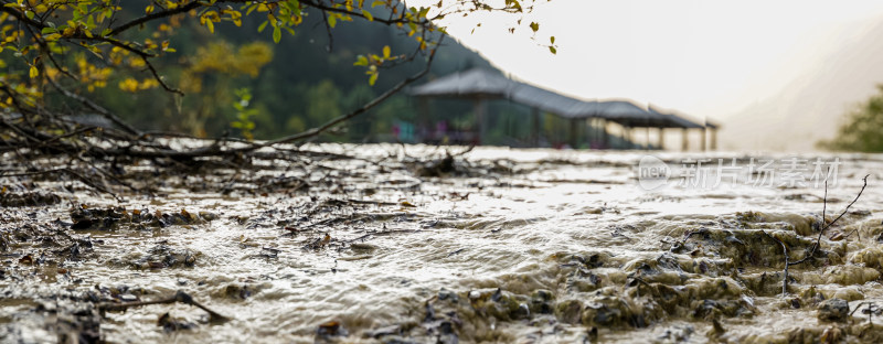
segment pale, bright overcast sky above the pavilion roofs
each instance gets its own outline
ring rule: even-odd
[[[883,1],[539,2],[528,21],[541,23],[538,42],[556,36],[556,55],[530,30],[509,34],[502,15],[451,20],[448,32],[541,87],[709,118],[775,96],[883,18]]]

